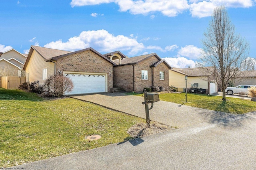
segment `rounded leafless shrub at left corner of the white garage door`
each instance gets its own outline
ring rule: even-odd
[[[44,86],[46,88],[45,95],[54,95],[59,98],[64,96],[66,93],[71,92],[74,88],[72,80],[62,74],[56,74],[48,77],[44,82]]]

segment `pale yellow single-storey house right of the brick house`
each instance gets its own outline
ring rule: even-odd
[[[187,88],[206,89],[206,94],[217,92],[217,85],[204,73],[203,68],[172,68],[169,69],[169,86],[183,92],[186,87],[185,76],[188,76]]]

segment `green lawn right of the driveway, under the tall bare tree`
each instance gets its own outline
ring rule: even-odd
[[[130,93],[127,93],[130,94]],[[142,94],[133,94],[142,96]],[[199,107],[216,111],[224,111],[227,113],[242,114],[256,111],[256,102],[250,100],[242,100],[239,98],[226,98],[226,102],[222,101],[220,96],[210,96],[205,94],[187,94],[187,103],[185,93],[165,93],[159,95],[160,100],[183,104],[186,106]]]

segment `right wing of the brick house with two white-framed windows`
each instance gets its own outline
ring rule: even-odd
[[[169,68],[156,53],[137,57],[118,57],[113,60],[113,86],[126,91],[142,92],[150,86],[169,86]]]

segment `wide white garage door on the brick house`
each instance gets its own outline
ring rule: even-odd
[[[71,78],[74,89],[69,94],[106,92],[106,74],[64,73]]]

